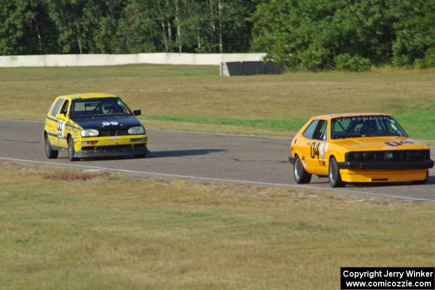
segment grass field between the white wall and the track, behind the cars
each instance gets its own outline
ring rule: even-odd
[[[221,78],[217,66],[0,69],[2,118],[43,120],[55,96],[107,92],[146,126],[291,136],[313,115],[392,113],[411,137],[435,140],[435,70],[288,73]]]

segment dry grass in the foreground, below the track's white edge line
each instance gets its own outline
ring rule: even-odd
[[[339,289],[435,259],[433,204],[9,162],[0,184],[4,289]]]

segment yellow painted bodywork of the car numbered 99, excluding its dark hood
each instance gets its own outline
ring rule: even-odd
[[[68,139],[71,138],[78,158],[145,154],[148,141],[146,132],[136,135],[82,137],[83,126],[71,119],[72,103],[78,99],[98,98],[117,98],[122,102],[116,95],[99,93],[56,97],[45,119],[43,138],[48,138],[52,148],[57,151],[67,151]],[[122,104],[128,108],[125,103],[122,102]],[[128,110],[131,111],[129,108]],[[138,123],[143,126],[141,122],[138,121]]]

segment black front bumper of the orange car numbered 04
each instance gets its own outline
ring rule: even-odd
[[[433,160],[392,161],[392,162],[338,162],[340,169],[428,169],[433,167]]]

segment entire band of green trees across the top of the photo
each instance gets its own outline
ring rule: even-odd
[[[435,0],[0,0],[0,55],[267,52],[293,70],[435,66]]]

